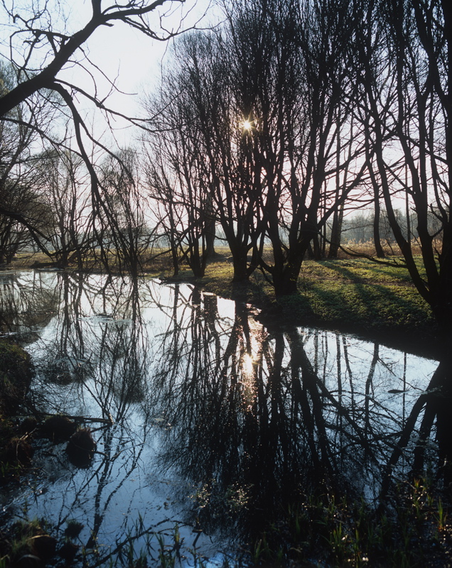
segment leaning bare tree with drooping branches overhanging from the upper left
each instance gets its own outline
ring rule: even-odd
[[[176,0],[176,4],[182,4],[182,0]],[[144,36],[156,40],[166,40],[177,35],[181,27],[166,31],[158,24],[152,23],[152,17],[163,16],[165,10],[170,11],[173,3],[167,0],[132,0],[126,4],[107,2],[104,0],[92,0],[90,18],[77,31],[71,30],[72,23],[67,21],[63,13],[63,5],[59,2],[50,4],[47,1],[22,4],[4,1],[1,4],[4,20],[8,21],[10,29],[8,58],[16,73],[16,85],[7,92],[2,92],[0,97],[1,121],[9,123],[14,121],[23,126],[33,126],[33,117],[36,109],[41,107],[53,107],[60,112],[64,123],[68,116],[72,121],[72,129],[77,143],[78,153],[85,162],[90,175],[90,190],[92,195],[92,211],[95,222],[93,229],[102,248],[102,239],[97,234],[100,227],[109,226],[112,238],[117,250],[127,251],[128,242],[124,240],[124,233],[116,225],[114,212],[109,210],[108,199],[102,182],[98,177],[98,170],[92,163],[93,148],[104,153],[114,155],[107,146],[93,135],[91,125],[87,124],[84,116],[86,105],[92,105],[109,122],[112,117],[122,117],[131,124],[141,124],[133,117],[125,116],[119,111],[114,111],[106,106],[104,97],[97,89],[96,76],[102,77],[110,83],[114,90],[114,80],[106,77],[102,70],[93,65],[85,52],[85,43],[100,28],[112,27],[117,23],[123,23]],[[161,20],[160,20],[161,23]],[[77,84],[70,83],[63,78],[64,70],[68,67],[79,66],[85,70],[93,81],[93,92],[87,92]],[[25,105],[28,115],[23,118],[11,116],[14,109],[21,104]],[[63,124],[63,131],[65,124]],[[41,132],[42,133],[42,132]],[[42,133],[49,138],[47,133]],[[64,147],[63,139],[51,138],[51,143],[58,147]],[[119,159],[116,156],[116,159]],[[0,212],[7,214],[3,204],[0,204]],[[26,219],[18,219],[26,223]],[[102,229],[103,230],[103,229]],[[107,253],[102,252],[102,261],[107,262]],[[130,258],[124,253],[124,258]]]

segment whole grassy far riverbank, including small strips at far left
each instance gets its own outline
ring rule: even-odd
[[[366,258],[304,261],[298,293],[276,299],[270,283],[255,271],[247,283],[232,283],[228,251],[208,263],[204,278],[193,278],[182,268],[177,278],[158,257],[144,263],[144,274],[165,281],[189,282],[220,297],[246,302],[257,318],[274,325],[316,326],[355,334],[409,353],[438,358],[443,350],[429,305],[411,283],[406,268],[375,263]],[[389,258],[389,261],[394,261]],[[401,259],[397,259],[401,262]],[[19,255],[7,270],[33,268],[45,262],[42,254]],[[43,270],[48,266],[42,266]],[[87,272],[102,271],[93,266]],[[117,271],[112,268],[113,273]]]

